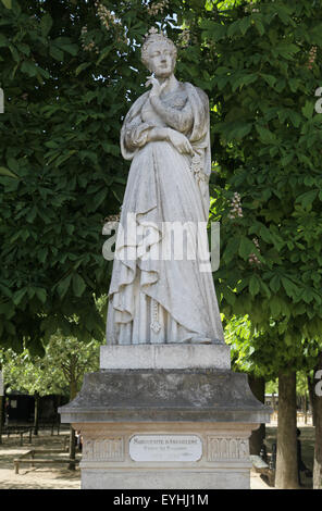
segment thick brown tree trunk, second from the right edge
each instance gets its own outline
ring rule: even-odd
[[[275,487],[298,488],[296,373],[278,375],[278,425]]]

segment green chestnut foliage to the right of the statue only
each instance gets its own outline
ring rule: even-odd
[[[212,214],[223,222],[224,247],[215,284],[226,322],[247,314],[258,333],[251,340],[235,333],[234,360],[264,373],[269,360],[272,371],[301,360],[304,338],[322,337],[322,117],[314,113],[322,74],[310,63],[312,47],[322,48],[321,14],[320,3],[261,2],[226,7],[216,18],[226,33],[209,72],[219,171]],[[234,194],[243,216],[233,213]]]

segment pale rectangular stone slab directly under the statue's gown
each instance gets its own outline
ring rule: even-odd
[[[100,369],[231,369],[231,348],[212,345],[101,346]]]

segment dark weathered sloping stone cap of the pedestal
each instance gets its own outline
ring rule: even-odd
[[[62,422],[269,422],[247,376],[215,370],[101,370],[85,375]]]

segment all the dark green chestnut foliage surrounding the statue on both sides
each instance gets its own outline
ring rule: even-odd
[[[37,351],[58,328],[102,338],[101,232],[122,204],[120,129],[145,90],[151,26],[177,43],[177,77],[210,98],[221,311],[301,357],[322,332],[315,0],[0,1],[1,344]]]

